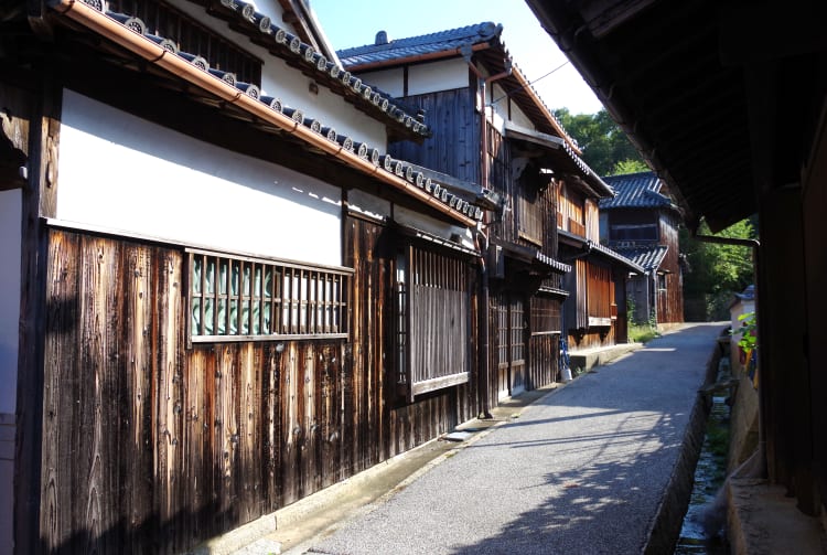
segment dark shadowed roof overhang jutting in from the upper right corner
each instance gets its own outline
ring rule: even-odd
[[[825,90],[824,2],[526,1],[691,227],[719,231],[798,182]]]

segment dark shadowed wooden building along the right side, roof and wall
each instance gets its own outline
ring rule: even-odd
[[[758,214],[761,241],[741,242],[753,247],[758,275],[761,418],[752,478],[824,522],[825,4],[528,4],[666,182],[690,231],[706,221],[718,232]]]

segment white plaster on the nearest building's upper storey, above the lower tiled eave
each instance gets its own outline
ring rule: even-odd
[[[357,110],[324,86],[319,86],[318,95],[311,93],[310,84],[313,79],[287,65],[266,49],[254,44],[247,36],[233,31],[224,21],[207,15],[201,6],[185,0],[172,0],[171,3],[241,50],[260,58],[264,62],[261,90],[265,94],[279,98],[284,106],[300,109],[305,117],[319,119],[325,127],[333,127],[339,135],[348,136],[383,152],[387,149],[387,129],[384,122]],[[294,34],[294,28],[282,21],[283,10],[278,1],[264,0],[256,4],[258,11],[268,15],[273,24]]]

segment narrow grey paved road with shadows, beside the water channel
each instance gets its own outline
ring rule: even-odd
[[[640,553],[722,324],[689,324],[526,407],[304,553]]]

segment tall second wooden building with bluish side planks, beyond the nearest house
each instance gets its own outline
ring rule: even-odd
[[[421,145],[395,143],[391,153],[455,177],[454,186],[475,191],[495,209],[483,222],[481,246],[487,252],[486,402],[551,383],[566,337],[563,302],[580,298],[566,277],[580,276],[572,269],[579,263],[558,250],[561,191],[610,190],[512,60],[502,25],[393,41],[379,32],[374,44],[339,56],[348,71],[428,115],[433,136]],[[597,210],[594,216],[597,242]]]

